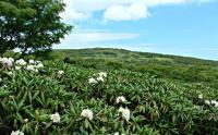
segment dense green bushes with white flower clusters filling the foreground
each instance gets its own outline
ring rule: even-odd
[[[60,61],[11,62],[1,59],[1,134],[218,134],[216,89]]]

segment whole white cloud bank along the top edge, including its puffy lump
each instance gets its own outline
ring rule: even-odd
[[[149,8],[166,4],[204,3],[214,0],[63,0],[65,12],[61,15],[68,21],[87,21],[97,11],[110,21],[135,21],[146,19]]]

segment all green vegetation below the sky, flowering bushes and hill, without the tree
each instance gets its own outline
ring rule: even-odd
[[[218,134],[215,61],[114,49],[48,58],[0,62],[0,133]]]

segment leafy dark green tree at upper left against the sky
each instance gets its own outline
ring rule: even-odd
[[[0,54],[19,48],[22,54],[60,44],[72,26],[61,22],[63,0],[0,0]]]

